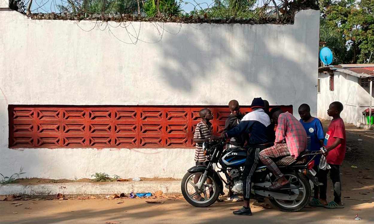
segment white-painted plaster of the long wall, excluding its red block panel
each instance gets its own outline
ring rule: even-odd
[[[316,115],[315,10],[298,12],[293,25],[122,24],[129,34],[116,23],[33,21],[12,11],[1,11],[0,21],[3,174],[22,165],[28,177],[181,178],[194,163],[194,149],[9,149],[9,104],[226,105],[237,99],[250,105],[261,96],[271,105],[294,105],[296,116],[308,103]]]

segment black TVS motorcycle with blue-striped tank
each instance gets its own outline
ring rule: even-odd
[[[247,150],[229,148],[224,150],[226,140],[203,143],[208,165],[197,165],[188,169],[181,183],[184,199],[196,207],[211,206],[220,195],[224,195],[223,183],[234,193],[243,192],[242,171]],[[252,147],[255,148],[256,146]],[[277,190],[270,190],[275,176],[263,164],[258,164],[252,176],[251,198],[269,198],[281,211],[296,212],[307,205],[311,195],[310,181],[321,185],[315,178],[314,158],[321,152],[302,152],[297,159],[291,156],[276,161],[289,184]],[[223,175],[220,175],[223,174]],[[222,177],[226,177],[226,181]],[[310,180],[310,181],[309,181]]]

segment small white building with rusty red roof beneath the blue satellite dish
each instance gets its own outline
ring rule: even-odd
[[[344,122],[358,127],[366,125],[362,112],[370,107],[370,103],[374,108],[373,86],[370,90],[374,64],[331,65],[319,68],[318,72],[318,117],[331,119],[327,109],[330,103],[340,101],[344,106],[341,113]]]

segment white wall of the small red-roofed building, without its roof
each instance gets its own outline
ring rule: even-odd
[[[321,93],[318,94],[317,116],[331,120],[331,117],[327,115],[327,109],[330,103],[340,101],[344,106],[344,110],[341,112],[344,122],[359,126],[362,122],[362,111],[369,107],[369,88],[361,87],[358,77],[343,72],[334,72],[334,75],[334,91],[330,91],[329,75],[318,74],[318,78],[321,78]]]

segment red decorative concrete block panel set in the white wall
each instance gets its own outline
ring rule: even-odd
[[[227,106],[212,110],[213,133],[223,131]],[[193,147],[202,106],[9,106],[11,148]],[[292,113],[292,106],[281,106]],[[249,112],[248,106],[241,106]]]

